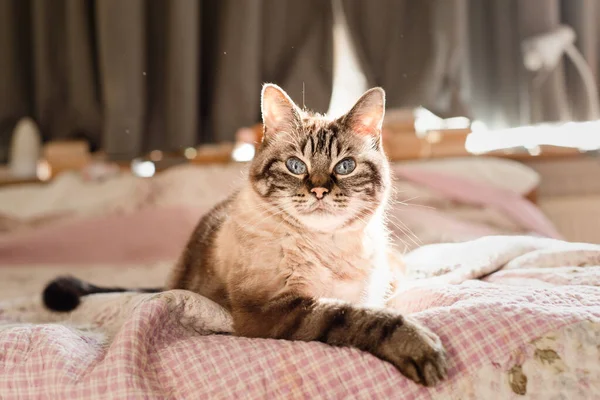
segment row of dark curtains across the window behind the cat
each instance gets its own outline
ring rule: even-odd
[[[23,117],[114,160],[233,141],[263,82],[323,113],[378,85],[391,109],[480,128],[595,119],[599,16],[594,0],[0,0],[0,160]]]

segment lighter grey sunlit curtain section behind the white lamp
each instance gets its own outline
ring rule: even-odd
[[[563,56],[553,70],[532,73],[525,69],[521,45],[560,25],[572,27],[577,36],[575,45],[598,86],[600,2],[460,1],[468,17],[464,67],[469,73],[464,87],[474,118],[491,128],[590,119],[585,86],[572,61]]]

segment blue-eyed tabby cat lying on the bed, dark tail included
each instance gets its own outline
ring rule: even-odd
[[[352,346],[423,385],[444,380],[438,336],[384,308],[394,271],[383,89],[332,120],[266,84],[261,109],[263,140],[247,184],[200,220],[164,289],[225,307],[240,336]],[[123,290],[61,277],[44,301],[69,311],[83,295]]]

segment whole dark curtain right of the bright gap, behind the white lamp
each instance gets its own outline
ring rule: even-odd
[[[560,25],[600,76],[597,0],[341,0],[369,85],[390,107],[423,105],[490,128],[595,119],[567,57],[552,71],[525,69],[522,44]]]

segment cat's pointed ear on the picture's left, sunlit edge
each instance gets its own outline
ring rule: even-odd
[[[267,83],[261,95],[264,138],[280,132],[291,132],[300,124],[300,110],[279,86]]]

